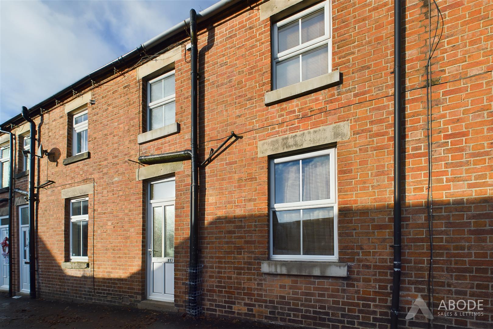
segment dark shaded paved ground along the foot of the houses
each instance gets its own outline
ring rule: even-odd
[[[238,320],[190,319],[176,314],[67,301],[9,298],[0,293],[0,328],[9,329],[282,329]]]

